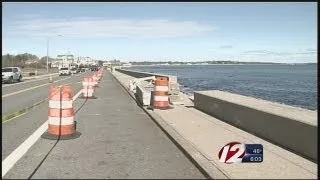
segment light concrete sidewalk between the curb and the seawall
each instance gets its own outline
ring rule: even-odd
[[[127,86],[133,77],[115,71]],[[146,109],[146,108],[145,108]],[[156,121],[214,178],[230,179],[316,179],[317,164],[231,126],[192,107],[175,105],[169,110],[148,110]],[[219,150],[230,141],[259,143],[264,147],[262,163],[224,164]],[[189,151],[188,151],[189,149]]]

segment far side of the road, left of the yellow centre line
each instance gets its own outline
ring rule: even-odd
[[[77,74],[74,76],[55,77],[53,78],[53,84],[74,84],[81,82],[83,80],[83,76],[89,74],[92,74],[92,72]],[[48,83],[48,78],[3,87],[2,115],[9,115],[46,99],[48,97],[49,87],[50,83]]]

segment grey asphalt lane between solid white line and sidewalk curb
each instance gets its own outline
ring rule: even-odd
[[[4,178],[204,178],[111,75],[95,96],[76,100],[79,138],[40,138]],[[29,123],[46,116],[39,109]]]

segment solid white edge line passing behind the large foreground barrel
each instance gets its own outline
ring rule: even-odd
[[[80,90],[75,96],[75,101],[82,90]],[[16,162],[30,149],[30,147],[41,137],[41,135],[48,129],[48,121],[43,123],[31,136],[28,137],[19,147],[17,147],[9,156],[2,161],[2,178],[7,172],[16,164]]]

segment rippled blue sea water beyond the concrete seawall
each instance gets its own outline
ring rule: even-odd
[[[181,90],[222,90],[317,109],[317,65],[145,66],[128,68],[178,77]]]

